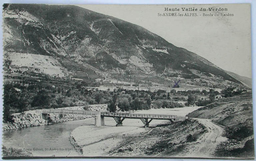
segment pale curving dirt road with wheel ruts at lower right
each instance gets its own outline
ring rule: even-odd
[[[214,151],[216,146],[221,142],[227,140],[226,137],[223,137],[224,129],[219,125],[213,123],[209,119],[198,119],[199,121],[207,128],[207,132],[205,132],[200,138],[197,139],[196,144],[190,143],[191,145],[187,146],[184,157],[214,157]]]

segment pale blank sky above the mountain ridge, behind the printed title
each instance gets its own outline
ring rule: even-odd
[[[139,25],[178,47],[192,51],[218,67],[251,78],[251,24],[249,4],[213,5],[77,5]],[[180,11],[164,11],[179,8]],[[181,8],[216,7],[228,11],[189,12]],[[158,13],[197,13],[194,17],[158,16]],[[218,13],[219,16],[203,16]],[[230,13],[234,16],[221,16]]]

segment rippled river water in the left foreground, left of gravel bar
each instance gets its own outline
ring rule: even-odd
[[[6,147],[32,149],[29,151],[33,156],[79,156],[79,153],[70,144],[70,132],[78,126],[92,125],[93,122],[93,119],[85,119],[6,130],[3,132],[3,145]],[[47,148],[51,149],[45,150]]]

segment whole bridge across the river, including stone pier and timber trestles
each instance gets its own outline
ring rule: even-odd
[[[66,110],[66,109],[42,109],[36,110],[37,113],[42,114],[43,119],[48,119],[49,114],[73,114],[73,115],[92,115],[95,116],[95,125],[104,126],[104,117],[114,118],[116,126],[122,126],[124,119],[140,119],[144,127],[148,127],[152,120],[169,120],[183,121],[187,117],[176,116],[176,115],[156,115],[156,114],[133,114],[133,113],[112,113],[112,112],[97,112],[97,111],[86,111],[86,110]]]

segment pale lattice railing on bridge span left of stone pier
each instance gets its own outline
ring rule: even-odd
[[[86,110],[65,110],[65,109],[42,109],[46,114],[80,114],[80,115],[97,115],[99,112]]]

